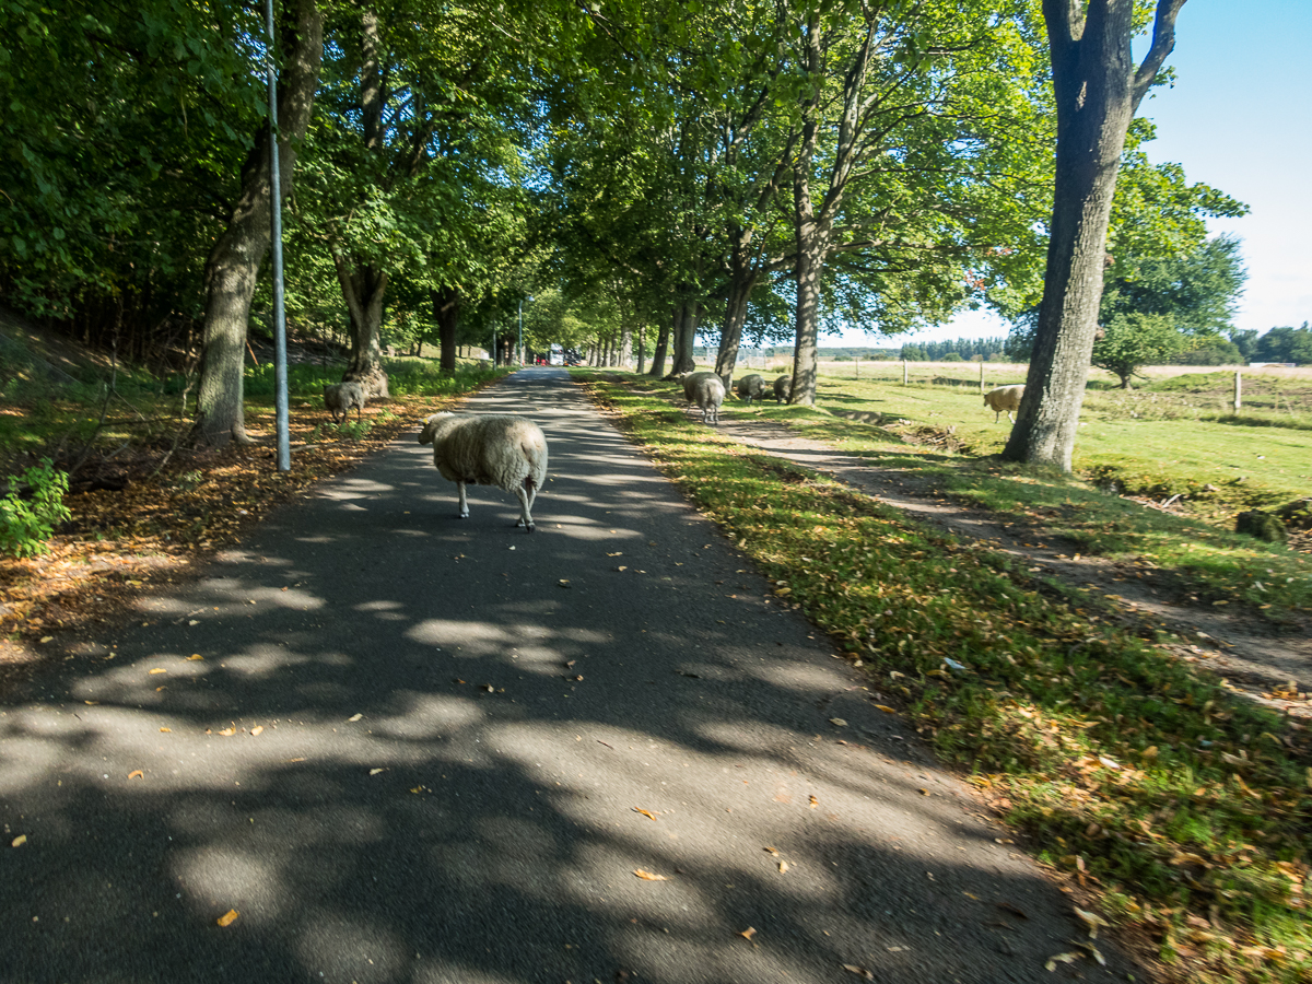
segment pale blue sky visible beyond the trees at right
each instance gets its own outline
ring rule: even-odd
[[[1135,51],[1141,56],[1145,47],[1147,39]],[[1176,85],[1155,89],[1139,108],[1139,115],[1157,125],[1157,139],[1144,147],[1149,160],[1177,161],[1190,181],[1214,185],[1252,209],[1241,219],[1208,223],[1211,232],[1244,240],[1248,287],[1235,318],[1237,328],[1265,332],[1312,321],[1309,52],[1309,0],[1187,0],[1168,59]],[[905,340],[1006,331],[997,318],[970,312]],[[866,341],[859,331],[844,338]],[[871,336],[869,342],[880,338]]]

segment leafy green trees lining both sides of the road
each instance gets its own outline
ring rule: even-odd
[[[1182,3],[279,0],[289,319],[340,329],[386,396],[384,323],[454,367],[531,295],[527,346],[636,346],[656,375],[699,332],[726,379],[744,337],[791,340],[810,404],[828,328],[1036,311],[1008,454],[1069,468],[1109,236],[1178,260],[1242,211],[1138,151]],[[194,437],[244,441],[261,25],[237,0],[72,8],[0,7],[0,289],[143,361],[199,333]]]

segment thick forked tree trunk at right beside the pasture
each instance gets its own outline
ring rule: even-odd
[[[1135,70],[1132,0],[1043,0],[1057,104],[1056,186],[1043,302],[1025,398],[1005,458],[1071,471],[1098,303],[1107,222],[1126,131],[1174,47],[1185,0],[1158,0],[1152,47]]]

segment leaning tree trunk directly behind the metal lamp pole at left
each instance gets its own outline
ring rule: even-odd
[[[291,194],[297,148],[310,125],[319,88],[324,18],[315,0],[293,0],[291,22],[283,22],[281,35],[278,178],[285,199]],[[270,177],[269,131],[264,127],[241,168],[241,194],[228,227],[205,266],[205,338],[197,419],[192,426],[192,441],[198,445],[251,442],[245,433],[241,371],[251,297],[272,237]]]

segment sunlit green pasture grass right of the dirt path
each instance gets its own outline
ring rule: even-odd
[[[815,411],[774,403],[748,408],[731,400],[724,416],[778,420],[849,454],[878,459],[880,467],[925,475],[946,495],[1004,520],[1039,523],[1085,554],[1147,562],[1203,601],[1244,602],[1271,617],[1312,610],[1312,559],[1232,531],[1241,510],[1271,509],[1307,495],[1312,433],[1132,417],[1136,403],[1153,404],[1148,394],[1131,398],[1135,403],[1119,392],[1089,394],[1075,475],[996,458],[1010,425],[1005,416],[993,422],[977,384],[904,387],[823,375]],[[882,415],[883,424],[842,415]],[[947,443],[922,443],[928,438]],[[1177,501],[1187,512],[1148,509],[1122,499],[1122,492],[1157,501],[1181,495]]]

